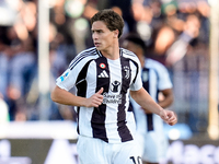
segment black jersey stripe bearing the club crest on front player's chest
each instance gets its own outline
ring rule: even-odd
[[[120,57],[120,67],[122,67],[122,104],[118,105],[118,113],[117,113],[117,130],[118,134],[120,136],[122,142],[132,140],[132,136],[127,127],[126,121],[126,112],[125,112],[125,104],[126,104],[126,94],[127,90],[129,89],[131,73],[130,73],[130,65],[129,59]],[[127,77],[127,68],[129,68],[129,77]],[[128,106],[129,108],[129,106]]]

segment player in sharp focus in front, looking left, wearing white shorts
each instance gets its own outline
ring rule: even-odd
[[[170,125],[176,124],[177,118],[142,87],[137,56],[119,48],[122,16],[105,9],[91,17],[91,25],[95,47],[81,51],[71,61],[57,79],[51,99],[77,106],[81,164],[140,164],[129,95]],[[69,92],[73,86],[76,95]]]

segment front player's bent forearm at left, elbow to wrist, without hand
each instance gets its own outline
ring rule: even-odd
[[[71,106],[85,106],[85,98],[76,96],[72,93],[65,91],[58,86],[54,89],[51,92],[51,101],[64,104],[64,105],[71,105]]]

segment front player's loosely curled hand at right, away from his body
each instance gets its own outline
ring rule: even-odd
[[[172,110],[163,109],[160,112],[160,117],[170,126],[173,126],[177,122],[177,116]]]

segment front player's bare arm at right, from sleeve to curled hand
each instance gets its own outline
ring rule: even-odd
[[[143,109],[159,115],[166,124],[173,126],[177,122],[176,115],[171,110],[164,110],[143,87],[138,91],[130,91],[130,95]]]

